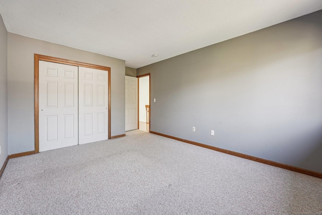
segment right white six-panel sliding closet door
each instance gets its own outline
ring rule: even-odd
[[[79,144],[108,139],[108,73],[78,67]]]

